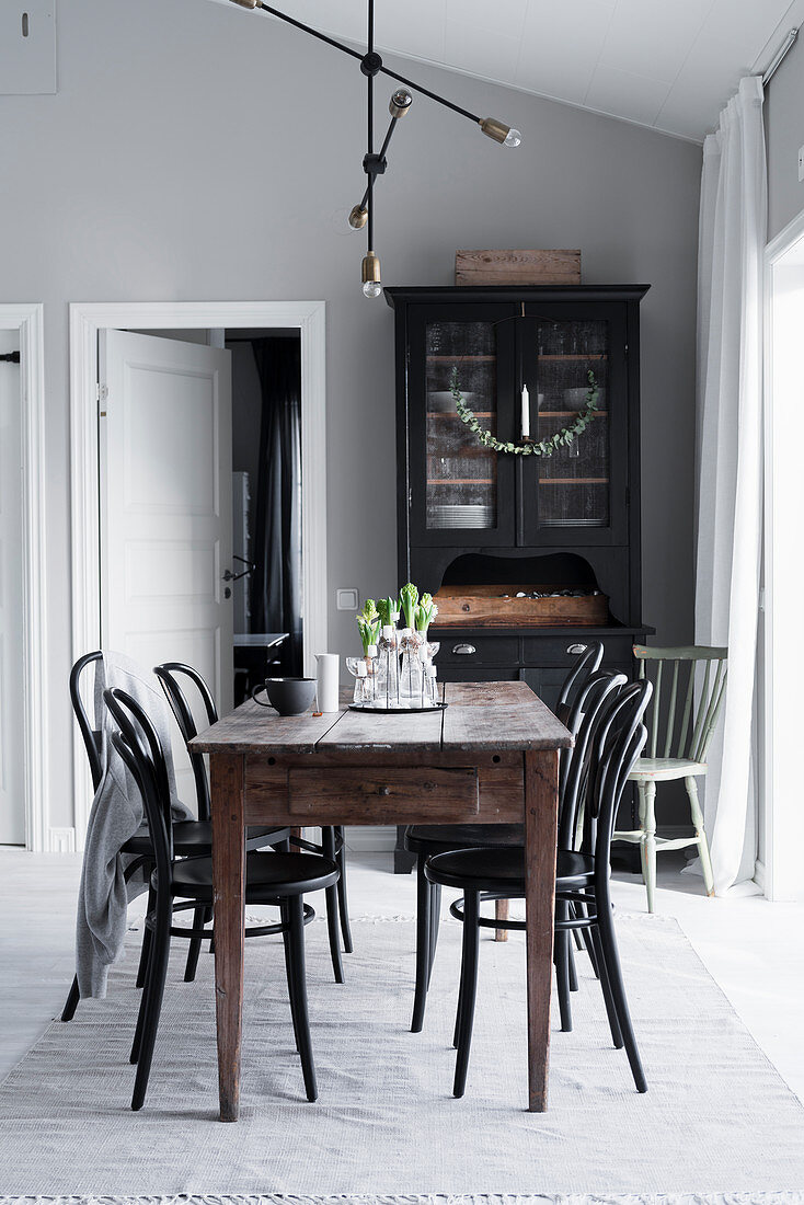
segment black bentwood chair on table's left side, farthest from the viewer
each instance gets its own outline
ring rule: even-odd
[[[178,729],[184,739],[184,745],[187,746],[187,753],[190,759],[190,765],[193,766],[193,775],[195,776],[199,817],[203,816],[206,821],[209,821],[211,804],[206,762],[204,759],[204,754],[196,752],[189,743],[194,736],[198,736],[198,724],[186,692],[189,687],[189,689],[195,693],[196,701],[204,710],[209,724],[215,724],[218,721],[215,700],[209,686],[198,670],[193,669],[192,665],[183,665],[181,662],[165,662],[163,665],[154,666],[153,672],[162,683],[162,688],[165,692],[168,703],[170,704],[172,713],[176,717],[176,723],[178,724]],[[348,909],[346,904],[346,850],[344,845],[344,829],[333,827],[322,828],[321,845],[312,841],[305,841],[303,837],[292,836],[289,829],[283,829],[282,831],[284,833],[284,836],[289,839],[289,846],[305,850],[307,853],[323,853],[325,858],[330,858],[338,866],[338,883],[330,887],[327,892],[327,927],[329,931],[329,953],[333,960],[335,982],[342,983],[344,964],[341,962],[341,946],[338,933],[339,916],[341,931],[344,934],[344,948],[347,954],[352,953],[352,930],[350,928]],[[283,846],[283,848],[289,848],[289,846]],[[203,928],[209,919],[209,916],[204,918],[199,912],[199,915],[194,918],[194,924]],[[210,936],[212,935],[210,934]],[[195,962],[198,962],[196,946],[200,946],[200,942],[194,942],[190,947],[190,953],[187,956],[188,966],[190,957],[193,957],[193,951]]]

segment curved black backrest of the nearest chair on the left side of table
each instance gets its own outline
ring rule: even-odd
[[[159,737],[140,704],[125,690],[104,690],[104,701],[128,750],[127,756],[121,741],[115,740],[115,735],[118,734],[113,734],[115,748],[131,771],[142,795],[157,872],[165,882],[168,880],[163,878],[163,875],[170,874],[170,864],[174,860],[174,825],[168,766]]]

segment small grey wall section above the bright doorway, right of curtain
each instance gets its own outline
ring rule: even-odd
[[[798,148],[804,145],[804,35],[768,84],[764,105],[768,141],[768,239],[804,208]]]

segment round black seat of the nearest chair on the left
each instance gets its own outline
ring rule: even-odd
[[[277,897],[303,895],[338,882],[338,866],[315,853],[250,853],[246,856],[246,903],[269,904]],[[152,877],[155,889],[157,875]],[[174,864],[174,895],[212,899],[212,859],[188,858]]]

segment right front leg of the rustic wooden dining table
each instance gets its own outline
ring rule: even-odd
[[[547,1110],[552,988],[558,751],[524,754],[524,875],[528,952],[528,1109]]]

